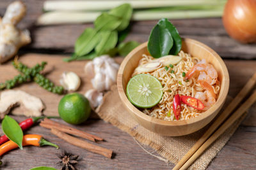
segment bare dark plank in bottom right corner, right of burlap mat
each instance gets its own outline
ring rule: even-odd
[[[256,127],[239,127],[207,169],[255,169]]]

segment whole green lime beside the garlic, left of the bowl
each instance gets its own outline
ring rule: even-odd
[[[90,116],[91,107],[88,99],[81,94],[67,94],[60,100],[60,117],[68,124],[81,124]]]

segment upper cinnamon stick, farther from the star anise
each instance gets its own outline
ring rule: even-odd
[[[49,118],[44,118],[44,120],[40,123],[40,125],[42,127],[47,128],[47,129],[51,129],[51,127],[54,126],[56,129],[58,129],[61,132],[67,132],[68,134],[72,134],[74,136],[79,136],[81,138],[88,139],[90,141],[95,141],[95,140],[103,141],[104,140],[104,139],[102,139],[98,136],[95,136],[93,134],[89,134],[87,132],[79,131],[76,128],[70,127],[68,125],[61,124],[59,122],[55,122],[53,120],[50,120]]]

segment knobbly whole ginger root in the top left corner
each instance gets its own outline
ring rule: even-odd
[[[25,14],[26,6],[15,1],[8,6],[4,17],[0,17],[0,64],[12,58],[21,46],[31,42],[29,31],[20,31],[16,27]]]

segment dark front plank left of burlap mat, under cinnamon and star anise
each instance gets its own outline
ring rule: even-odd
[[[18,121],[24,120],[24,117],[14,118]],[[72,146],[52,135],[48,129],[38,125],[32,127],[26,134],[41,134],[45,139],[60,145],[61,149],[79,154],[80,160],[76,166],[77,169],[170,169],[165,163],[145,153],[131,136],[103,120],[89,120],[83,125],[76,126],[76,128],[106,139],[106,142],[97,145],[113,149],[113,152],[116,153],[115,158],[107,159],[101,155]],[[152,152],[152,149],[150,151]],[[3,169],[20,170],[36,166],[57,168],[56,162],[59,159],[55,154],[60,152],[61,150],[56,150],[51,146],[40,148],[26,146],[24,150],[16,149],[4,155],[2,160],[7,164]]]

